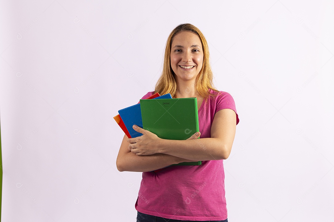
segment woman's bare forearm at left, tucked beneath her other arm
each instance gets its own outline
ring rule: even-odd
[[[128,137],[124,135],[120,150],[118,152],[116,166],[119,171],[148,172],[181,162],[193,162],[164,153],[138,156],[129,150]]]

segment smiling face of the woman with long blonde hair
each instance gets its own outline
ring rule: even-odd
[[[175,73],[175,80],[195,81],[203,66],[203,49],[198,35],[183,31],[174,36],[170,64]]]

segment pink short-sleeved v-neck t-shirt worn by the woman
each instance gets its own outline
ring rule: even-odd
[[[214,114],[235,109],[232,96],[226,92],[210,97],[198,110],[200,138],[210,136]],[[147,93],[142,99],[151,96]],[[236,114],[236,124],[239,118]],[[159,172],[143,172],[135,208],[153,216],[175,220],[226,220],[223,160],[202,161],[198,166],[169,166]]]

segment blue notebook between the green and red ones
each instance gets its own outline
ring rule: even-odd
[[[172,96],[168,93],[166,95],[159,96],[152,100],[157,100],[157,99],[172,99]],[[124,125],[128,129],[131,135],[131,138],[143,135],[142,133],[139,133],[132,128],[133,125],[137,125],[143,128],[142,112],[140,110],[140,103],[133,105],[131,107],[119,110],[118,113],[120,114],[124,122]]]

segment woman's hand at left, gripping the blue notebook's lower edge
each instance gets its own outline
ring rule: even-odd
[[[129,138],[127,140],[130,143],[129,150],[131,150],[131,152],[135,153],[137,156],[158,153],[158,143],[161,138],[137,125],[133,125],[133,129],[143,135],[135,138]]]

